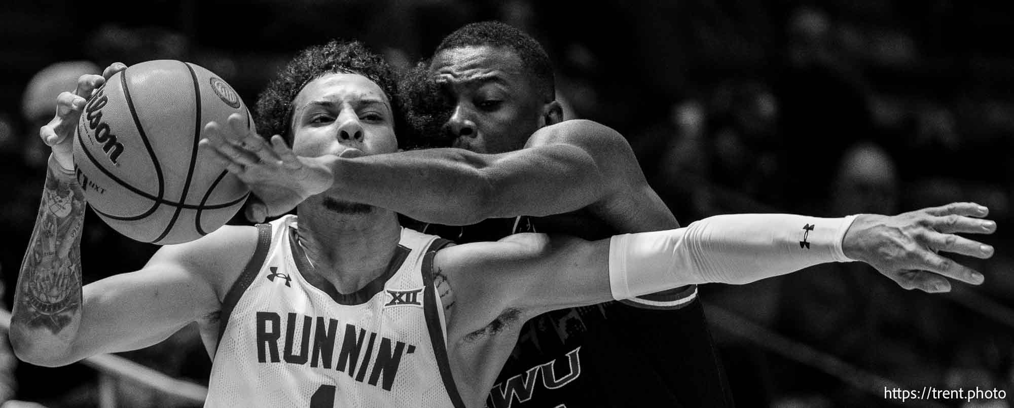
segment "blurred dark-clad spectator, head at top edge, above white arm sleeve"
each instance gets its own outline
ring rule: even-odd
[[[834,22],[823,11],[802,7],[789,20],[786,66],[776,86],[785,149],[786,204],[813,213],[827,198],[827,181],[844,149],[871,131],[866,85],[838,53]]]

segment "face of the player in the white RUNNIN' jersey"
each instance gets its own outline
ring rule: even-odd
[[[298,155],[397,151],[390,100],[365,76],[325,74],[307,83],[292,105],[292,150]]]

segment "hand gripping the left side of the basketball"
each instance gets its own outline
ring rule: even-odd
[[[73,92],[64,91],[57,96],[57,114],[50,123],[39,129],[39,137],[53,148],[53,158],[64,169],[74,169],[74,129],[84,111],[84,104],[95,88],[105,83],[113,74],[126,68],[126,65],[117,62],[106,67],[102,75],[81,75]]]

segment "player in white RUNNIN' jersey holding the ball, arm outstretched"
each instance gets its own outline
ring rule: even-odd
[[[302,53],[280,79],[297,85],[293,152],[394,152],[389,76],[382,60],[356,43]],[[850,258],[977,284],[976,272],[924,246],[992,255],[953,234],[995,227],[976,218],[987,211],[971,203],[859,216],[874,227],[850,227],[852,217],[741,215],[596,242],[522,233],[452,246],[401,227],[389,210],[324,191],[299,204],[298,218],[223,226],[161,248],[139,271],[82,288],[84,201],[70,136],[82,96],[101,82],[82,77],[41,130],[53,153],[18,279],[11,342],[27,362],[63,365],[145,347],[198,322],[214,361],[207,406],[479,407],[516,341],[516,323],[546,311],[685,284],[745,283]],[[211,143],[239,143],[228,133],[206,127]],[[797,222],[814,227],[801,236]],[[566,381],[562,372],[542,377],[548,387]]]

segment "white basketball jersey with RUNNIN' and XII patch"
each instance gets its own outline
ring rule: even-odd
[[[295,225],[295,215],[259,225],[222,308],[205,406],[463,407],[430,273],[446,242],[403,228],[387,273],[335,298],[300,273]]]

